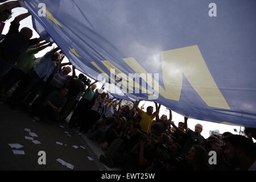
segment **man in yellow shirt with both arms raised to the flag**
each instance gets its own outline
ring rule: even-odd
[[[135,102],[134,107],[137,109],[139,115],[141,115],[142,119],[140,122],[141,125],[141,130],[144,133],[149,134],[151,131],[151,124],[153,119],[156,117],[156,115],[159,114],[159,110],[160,110],[160,105],[158,107],[158,105],[155,103],[156,105],[156,111],[153,113],[154,108],[152,106],[148,106],[147,107],[147,112],[139,109],[138,105],[139,105],[140,101]]]

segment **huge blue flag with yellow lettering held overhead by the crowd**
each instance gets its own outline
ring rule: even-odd
[[[49,35],[86,75],[105,77],[114,96],[156,101],[204,121],[256,127],[256,1],[25,5],[39,34]]]

